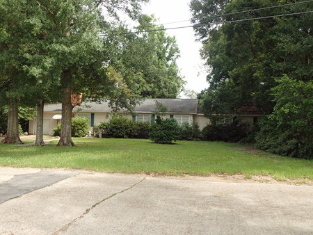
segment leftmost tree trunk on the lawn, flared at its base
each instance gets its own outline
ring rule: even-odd
[[[17,100],[10,99],[8,103],[8,131],[3,143],[22,144],[19,138],[19,106]]]

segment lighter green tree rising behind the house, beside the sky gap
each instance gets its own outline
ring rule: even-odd
[[[179,58],[176,40],[165,31],[150,31],[163,29],[154,26],[157,21],[153,15],[142,15],[138,22],[135,30],[141,33],[126,31],[129,34],[122,40],[122,52],[115,67],[128,78],[129,88],[141,97],[176,98],[184,85],[176,63]]]

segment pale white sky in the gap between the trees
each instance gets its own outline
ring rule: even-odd
[[[159,19],[161,24],[179,22],[191,19],[189,10],[190,0],[150,0],[150,3],[143,6],[142,12],[152,15]],[[190,22],[181,22],[177,24],[166,24],[165,28],[177,26],[189,26]],[[203,66],[204,60],[200,58],[200,42],[195,42],[195,33],[192,28],[173,29],[166,33],[175,36],[180,50],[180,58],[177,65],[181,70],[181,75],[187,82],[186,89],[200,92],[209,86],[206,81],[207,72]],[[184,95],[181,95],[184,98]]]

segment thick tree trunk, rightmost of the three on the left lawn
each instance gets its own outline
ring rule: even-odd
[[[72,103],[71,87],[63,88],[61,136],[58,146],[74,146],[72,141]]]

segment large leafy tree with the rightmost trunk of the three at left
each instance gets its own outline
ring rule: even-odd
[[[63,103],[58,145],[72,145],[72,94],[110,98],[112,106],[129,106],[126,98],[131,98],[131,92],[110,66],[112,45],[119,35],[116,9],[134,19],[142,1],[1,1],[1,61],[8,61],[3,63],[6,76],[1,80],[10,84],[9,107],[16,111],[17,98],[27,93],[22,92],[25,86],[41,84],[33,94],[46,94],[45,89],[53,84],[54,94],[61,94]],[[34,96],[42,108],[45,97]]]

